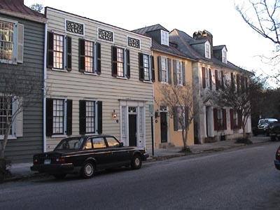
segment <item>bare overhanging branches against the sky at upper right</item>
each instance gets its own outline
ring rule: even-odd
[[[260,55],[260,59],[263,63],[272,66],[272,73],[267,73],[265,70],[265,74],[276,83],[280,83],[280,1],[247,0],[242,5],[236,5],[236,9],[254,31],[276,45],[272,55]]]

